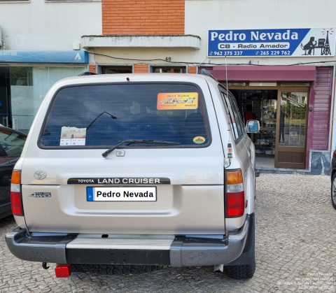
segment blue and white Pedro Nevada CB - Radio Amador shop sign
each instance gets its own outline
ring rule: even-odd
[[[335,28],[209,30],[208,57],[332,57]]]

